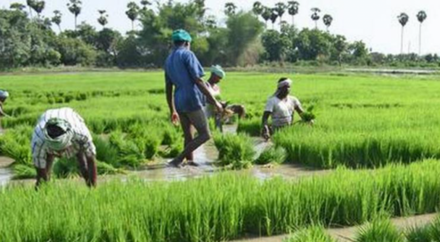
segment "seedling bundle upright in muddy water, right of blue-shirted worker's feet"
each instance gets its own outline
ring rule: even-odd
[[[248,168],[252,164],[255,151],[249,136],[224,134],[214,136],[214,145],[219,152],[221,165],[233,169]]]

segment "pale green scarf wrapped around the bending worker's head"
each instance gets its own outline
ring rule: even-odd
[[[65,133],[56,138],[52,138],[49,136],[48,133],[48,125],[56,125],[61,128]],[[70,123],[60,118],[49,119],[46,122],[46,126],[44,127],[45,142],[48,144],[48,147],[50,149],[53,149],[55,151],[61,151],[69,147],[72,144],[73,134],[74,133],[72,131]]]

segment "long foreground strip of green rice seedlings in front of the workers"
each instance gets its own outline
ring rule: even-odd
[[[54,180],[0,190],[0,241],[216,242],[436,211],[440,163],[339,168],[297,182],[222,173],[176,182]],[[41,209],[50,208],[50,209]],[[309,233],[300,232],[308,238]],[[319,229],[311,235],[321,237]],[[295,241],[295,240],[293,240]]]

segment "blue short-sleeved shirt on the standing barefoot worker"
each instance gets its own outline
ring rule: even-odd
[[[174,103],[177,112],[200,110],[203,94],[195,80],[203,77],[203,67],[197,57],[184,47],[175,48],[165,62],[165,81],[176,86]]]

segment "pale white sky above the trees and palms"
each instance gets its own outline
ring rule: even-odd
[[[130,0],[83,0],[83,11],[78,21],[86,20],[100,29],[96,18],[97,9],[105,9],[109,14],[108,27],[125,32],[131,29],[131,22],[125,15],[126,5]],[[140,1],[140,0],[138,0]],[[162,0],[166,1],[166,0]],[[187,0],[177,0],[187,1]],[[224,4],[234,2],[244,10],[250,10],[254,0],[206,0],[208,13],[224,20]],[[260,0],[264,5],[273,6],[280,0]],[[319,7],[321,16],[329,13],[334,21],[330,27],[332,33],[343,34],[350,41],[363,40],[373,51],[397,54],[400,52],[401,26],[397,15],[406,12],[410,20],[405,27],[404,52],[417,53],[419,51],[419,22],[416,14],[425,10],[428,18],[422,28],[422,53],[440,54],[440,31],[436,23],[440,23],[440,0],[298,0],[299,14],[295,16],[298,27],[314,27],[310,19],[312,7]],[[7,8],[12,2],[25,3],[25,0],[0,0],[0,7]],[[52,16],[53,10],[59,9],[63,13],[62,28],[73,28],[74,17],[68,11],[68,0],[46,0],[46,9],[43,14]],[[287,2],[287,0],[284,0]],[[287,13],[284,20],[291,21]],[[322,20],[322,19],[321,19]],[[319,28],[325,26],[320,20]],[[269,24],[270,26],[270,24]],[[140,28],[138,25],[137,28]]]

